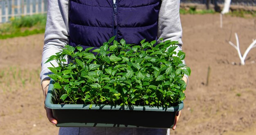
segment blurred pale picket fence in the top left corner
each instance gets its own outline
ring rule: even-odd
[[[47,0],[0,0],[0,23],[11,17],[47,12]]]

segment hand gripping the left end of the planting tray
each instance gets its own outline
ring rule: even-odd
[[[50,83],[49,79],[45,79],[45,80],[42,81],[42,89],[43,89],[43,95],[44,95],[44,102],[45,102],[45,98],[46,98],[46,95],[47,95],[49,83]],[[53,124],[57,124],[57,120],[54,119],[54,117],[52,116],[52,109],[49,109],[49,108],[45,107],[45,104],[44,104],[44,108],[45,108],[46,116],[47,116],[49,122],[51,122]]]

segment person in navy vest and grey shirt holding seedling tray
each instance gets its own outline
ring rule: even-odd
[[[47,23],[40,79],[44,99],[51,74],[47,61],[67,44],[99,48],[112,36],[128,44],[140,44],[143,39],[178,41],[182,50],[180,0],[48,0]],[[184,61],[183,61],[184,62]],[[53,63],[55,64],[55,63]],[[188,76],[183,80],[187,83]],[[46,108],[49,122],[57,124],[52,110]],[[177,113],[173,130],[180,118]],[[169,129],[159,128],[101,128],[70,127],[59,129],[59,135],[166,135]]]

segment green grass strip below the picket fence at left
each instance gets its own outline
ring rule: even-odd
[[[11,18],[0,25],[0,39],[27,36],[45,32],[46,14]]]

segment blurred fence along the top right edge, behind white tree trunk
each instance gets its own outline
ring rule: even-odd
[[[207,0],[180,0],[181,3],[205,4]],[[217,1],[218,4],[224,4],[225,0],[209,0],[210,3]],[[256,0],[231,0],[231,5],[256,6]]]

